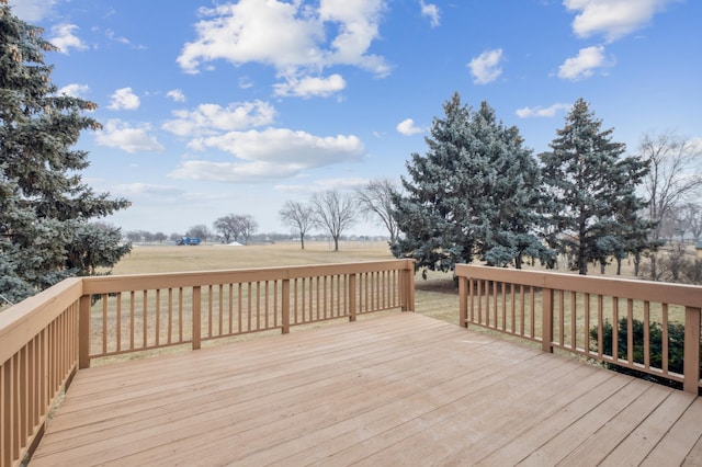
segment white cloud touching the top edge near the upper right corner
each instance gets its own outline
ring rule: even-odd
[[[579,37],[602,34],[615,41],[650,22],[667,3],[678,0],[564,0],[568,11],[578,11],[573,31]]]

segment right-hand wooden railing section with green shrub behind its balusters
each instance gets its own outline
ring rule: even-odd
[[[463,327],[477,324],[540,342],[546,352],[559,349],[700,390],[702,287],[466,264],[455,273]]]

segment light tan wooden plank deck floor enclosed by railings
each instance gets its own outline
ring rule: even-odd
[[[78,373],[30,464],[702,465],[702,398],[405,312]]]

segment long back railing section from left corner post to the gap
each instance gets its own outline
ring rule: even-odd
[[[414,309],[414,264],[384,261],[86,277],[91,358],[191,344],[393,308]]]

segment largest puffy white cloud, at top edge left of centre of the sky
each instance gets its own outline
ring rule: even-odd
[[[178,64],[190,73],[219,59],[236,66],[264,64],[287,80],[283,89],[292,89],[295,79],[305,81],[333,65],[386,76],[389,67],[385,59],[367,53],[380,35],[385,2],[321,0],[315,9],[301,1],[240,0],[201,9],[197,38],[183,46]]]

